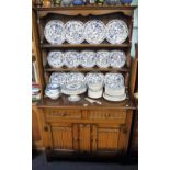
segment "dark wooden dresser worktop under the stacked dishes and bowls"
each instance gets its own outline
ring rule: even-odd
[[[110,102],[104,100],[103,98],[98,99],[98,101],[102,102],[101,105],[97,103],[90,103],[84,100],[87,94],[81,94],[81,100],[78,102],[70,102],[68,100],[68,95],[61,95],[57,100],[52,100],[49,98],[44,98],[38,103],[38,107],[57,107],[57,109],[135,109],[131,99],[126,99],[122,102]]]

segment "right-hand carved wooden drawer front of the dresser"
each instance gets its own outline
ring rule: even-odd
[[[125,110],[89,111],[88,118],[90,120],[126,120],[126,111]]]

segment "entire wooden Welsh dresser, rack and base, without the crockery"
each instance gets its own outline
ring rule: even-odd
[[[133,110],[135,109],[129,93],[131,77],[131,47],[133,32],[133,14],[137,7],[132,5],[103,5],[103,7],[52,7],[33,8],[36,14],[37,39],[39,48],[39,69],[42,78],[42,91],[48,83],[54,71],[101,71],[121,72],[125,77],[127,99],[123,102],[109,102],[99,99],[102,104],[89,103],[86,94],[81,95],[79,102],[71,103],[65,95],[57,100],[43,98],[38,103],[39,124],[43,136],[43,145],[46,149],[47,159],[57,157],[83,157],[88,158],[113,158],[126,155],[128,149]],[[66,23],[69,20],[80,20],[86,23],[89,20],[98,19],[107,23],[113,19],[121,19],[126,22],[129,36],[125,43],[120,45],[109,44],[106,41],[99,45],[68,44],[50,45],[45,41],[44,26],[50,20],[60,20]],[[59,50],[83,50],[83,49],[121,49],[126,54],[126,65],[123,68],[50,68],[47,64],[47,54],[53,49]],[[131,94],[131,93],[129,93]],[[105,140],[107,138],[107,140]]]

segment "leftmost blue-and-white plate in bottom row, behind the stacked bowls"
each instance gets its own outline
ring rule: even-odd
[[[63,87],[66,83],[67,73],[65,72],[53,72],[49,77],[49,83],[58,84]]]

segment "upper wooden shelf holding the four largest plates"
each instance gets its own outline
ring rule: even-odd
[[[127,48],[131,47],[129,43],[125,44],[61,44],[61,45],[52,45],[52,44],[42,44],[42,48]]]

